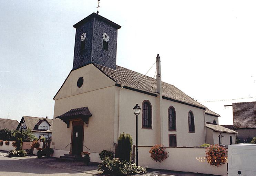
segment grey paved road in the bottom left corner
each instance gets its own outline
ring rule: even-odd
[[[38,174],[45,176],[49,176],[49,174],[53,176],[92,176],[91,174],[42,165],[24,159],[0,156],[0,176],[37,176]]]

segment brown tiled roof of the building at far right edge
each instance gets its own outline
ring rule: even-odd
[[[256,128],[256,101],[232,103],[235,129]]]

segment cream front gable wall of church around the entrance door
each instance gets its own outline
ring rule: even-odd
[[[77,87],[77,80],[83,77],[81,88]],[[55,97],[52,147],[56,150],[70,151],[71,130],[56,116],[80,107],[88,107],[92,114],[88,127],[84,126],[83,151],[100,153],[102,150],[113,151],[114,135],[114,98],[115,82],[107,78],[92,64],[72,71],[69,78]]]

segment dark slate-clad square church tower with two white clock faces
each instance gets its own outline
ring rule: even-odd
[[[92,13],[76,28],[73,70],[90,63],[116,68],[117,30],[120,25]]]

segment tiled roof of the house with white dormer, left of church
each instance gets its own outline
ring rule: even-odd
[[[33,130],[35,125],[39,123],[40,120],[46,120],[51,126],[53,125],[53,119],[45,119],[45,118],[40,118],[40,117],[30,117],[30,116],[23,116],[21,121],[24,120],[27,129],[31,129],[32,131],[40,131],[40,130]],[[41,121],[42,122],[42,121]],[[20,124],[17,127],[17,130],[20,128]],[[45,131],[45,130],[42,130]],[[52,131],[50,128],[49,131]]]

